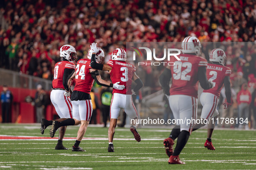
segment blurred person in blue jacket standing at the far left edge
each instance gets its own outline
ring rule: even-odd
[[[1,104],[2,104],[2,123],[11,122],[11,104],[13,101],[13,94],[8,90],[7,85],[3,85],[3,91],[1,92]]]

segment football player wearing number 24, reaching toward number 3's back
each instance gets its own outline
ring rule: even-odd
[[[72,79],[75,79],[76,82],[74,91],[71,94],[73,119],[67,119],[62,122],[52,122],[52,128],[50,131],[51,137],[54,136],[59,127],[78,125],[81,123],[81,126],[78,129],[75,145],[72,146],[72,151],[84,151],[81,147],[79,147],[79,144],[84,137],[93,111],[90,92],[94,80],[98,85],[113,87],[119,90],[125,88],[124,85],[118,85],[119,82],[112,84],[101,79],[98,70],[93,69],[90,66],[91,57],[95,57],[95,55],[97,62],[101,63],[104,60],[103,50],[97,47],[92,47],[88,51],[88,59],[78,60],[75,70],[68,76],[68,87],[70,86]]]

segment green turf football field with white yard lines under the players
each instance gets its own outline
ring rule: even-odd
[[[66,137],[76,137],[78,126],[68,127]],[[256,131],[215,130],[215,151],[204,148],[207,130],[192,133],[180,154],[185,165],[169,165],[162,141],[170,129],[138,129],[136,142],[127,128],[117,128],[115,152],[107,152],[107,128],[88,127],[80,146],[87,152],[72,152],[75,139],[63,141],[69,150],[55,150],[57,139],[3,140],[14,136],[49,137],[49,127],[40,134],[39,124],[0,124],[0,169],[42,170],[159,170],[159,169],[256,169]],[[56,135],[58,132],[56,132]]]

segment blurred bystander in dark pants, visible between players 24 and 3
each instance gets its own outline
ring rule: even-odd
[[[102,90],[100,92],[100,99],[101,99],[101,111],[103,116],[103,123],[104,123],[104,127],[106,127],[107,118],[110,117],[110,104],[112,99],[112,90],[109,87],[102,87]]]

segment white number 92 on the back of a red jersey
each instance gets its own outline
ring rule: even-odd
[[[189,72],[191,72],[192,64],[189,62],[182,63],[181,61],[175,61],[175,65],[173,66],[173,79],[175,80],[186,80],[190,81],[191,76],[187,75]],[[181,72],[182,67],[185,67],[186,69]]]

